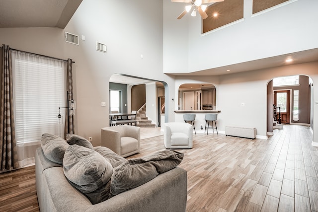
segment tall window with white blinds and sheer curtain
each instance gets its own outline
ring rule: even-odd
[[[14,51],[12,67],[17,144],[38,142],[44,133],[63,137],[57,116],[65,107],[66,63]]]

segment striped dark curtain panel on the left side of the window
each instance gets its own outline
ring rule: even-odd
[[[0,171],[18,168],[13,112],[13,83],[10,48],[2,45],[0,74]]]

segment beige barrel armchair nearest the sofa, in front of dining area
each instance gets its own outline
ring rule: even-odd
[[[101,129],[101,145],[127,157],[140,152],[140,127],[117,125]]]

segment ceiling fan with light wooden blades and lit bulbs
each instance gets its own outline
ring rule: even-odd
[[[206,19],[208,17],[208,14],[205,12],[207,5],[203,5],[203,4],[220,2],[224,0],[171,0],[171,1],[181,2],[181,3],[191,3],[191,5],[185,6],[185,10],[177,17],[177,19],[181,19],[188,12],[191,14],[191,16],[196,16],[196,11],[199,11],[202,19]]]

